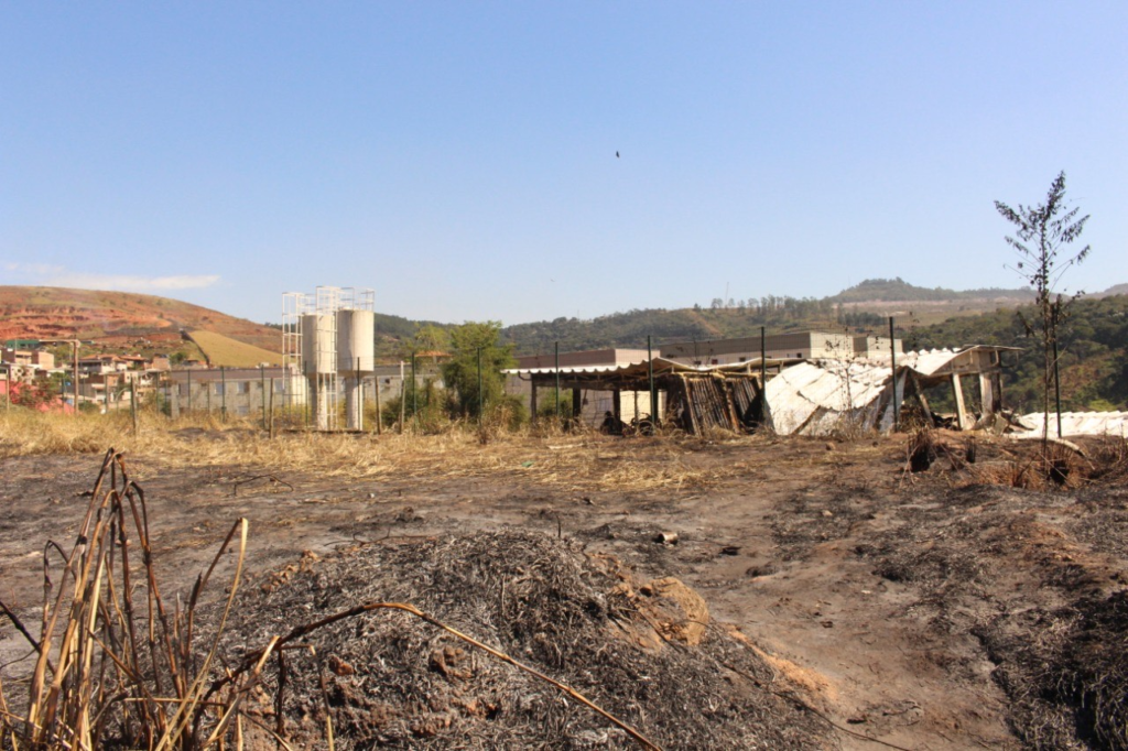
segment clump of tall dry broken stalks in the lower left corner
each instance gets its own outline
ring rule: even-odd
[[[10,698],[0,684],[3,745],[197,749],[226,735],[257,671],[209,698],[218,638],[196,644],[195,615],[217,565],[237,541],[230,594],[217,617],[215,633],[222,631],[243,569],[246,520],[232,527],[183,609],[161,598],[148,527],[144,493],[130,480],[121,454],[108,451],[73,547],[44,548],[38,636],[0,602],[36,654],[26,700]],[[54,576],[53,554],[61,564]]]

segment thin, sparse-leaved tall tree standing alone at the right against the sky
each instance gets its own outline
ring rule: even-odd
[[[1050,415],[1050,389],[1052,387],[1058,416],[1058,438],[1061,436],[1060,378],[1058,374],[1058,327],[1065,320],[1069,303],[1081,295],[1063,298],[1056,293],[1057,283],[1068,268],[1089,256],[1090,246],[1075,255],[1066,255],[1067,246],[1081,237],[1089,215],[1077,219],[1079,209],[1070,209],[1065,198],[1065,173],[1058,173],[1046,194],[1046,202],[1017,210],[1001,201],[995,209],[1006,221],[1015,226],[1015,237],[1007,236],[1006,242],[1019,255],[1015,271],[1034,291],[1037,318],[1023,318],[1028,334],[1037,336],[1042,355],[1042,439],[1047,436]],[[1021,315],[1021,313],[1020,313]]]

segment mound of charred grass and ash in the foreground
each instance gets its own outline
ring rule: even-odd
[[[812,749],[834,740],[677,580],[641,583],[576,541],[503,530],[307,555],[240,595],[221,653],[368,602],[411,603],[571,687],[663,749]],[[297,643],[294,643],[297,644]],[[430,622],[374,610],[271,659],[248,735],[294,748],[646,748],[550,682]],[[248,739],[249,740],[249,739]],[[257,744],[256,744],[257,745]],[[653,748],[653,746],[650,746]]]

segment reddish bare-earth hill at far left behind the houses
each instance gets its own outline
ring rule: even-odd
[[[0,286],[0,341],[15,338],[175,342],[180,332],[214,332],[281,352],[276,329],[200,306],[152,294],[59,286]]]

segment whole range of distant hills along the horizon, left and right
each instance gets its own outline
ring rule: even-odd
[[[1063,398],[1068,408],[1128,408],[1128,284],[1079,300],[1063,332]],[[1029,290],[944,290],[920,288],[900,279],[866,280],[827,298],[768,295],[758,300],[714,300],[704,308],[616,312],[583,320],[518,324],[502,329],[517,354],[602,347],[645,347],[663,343],[756,336],[803,329],[884,334],[889,317],[910,348],[961,344],[1007,344],[1023,347],[1007,366],[1006,395],[1012,406],[1037,408],[1038,363],[1016,310],[1032,301]],[[377,355],[386,361],[411,351],[424,324],[377,313]],[[281,350],[281,327],[254,324],[167,298],[126,292],[92,292],[60,288],[0,286],[0,341],[10,338],[97,338],[115,351],[160,351],[138,347],[138,341],[164,342],[164,351],[199,356],[195,344],[182,342],[191,332],[213,364],[273,362]],[[241,343],[241,344],[239,344]],[[252,345],[247,347],[246,345]],[[261,347],[261,350],[254,350]],[[265,353],[264,353],[265,351]]]

